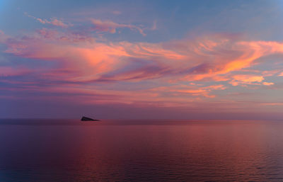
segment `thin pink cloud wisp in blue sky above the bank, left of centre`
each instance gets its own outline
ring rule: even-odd
[[[139,28],[136,25],[115,23],[113,21],[101,21],[98,19],[91,19],[91,22],[93,23],[92,30],[96,30],[100,32],[116,33],[117,28],[129,28],[131,30],[138,30],[141,35],[146,36],[144,30],[142,30],[142,28]]]

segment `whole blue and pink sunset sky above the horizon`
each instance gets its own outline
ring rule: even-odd
[[[0,0],[0,118],[283,117],[283,1]]]

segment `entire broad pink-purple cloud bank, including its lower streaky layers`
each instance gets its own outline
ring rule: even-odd
[[[100,28],[110,31],[108,28],[115,25]],[[219,93],[228,94],[233,86],[275,84],[264,82],[264,78],[279,70],[262,71],[253,66],[268,64],[267,60],[256,62],[260,57],[283,53],[282,42],[238,40],[226,35],[158,43],[109,42],[96,41],[87,33],[42,28],[22,37],[0,36],[8,37],[2,41],[6,54],[52,65],[45,69],[40,67],[43,63],[30,65],[29,69],[40,72],[6,81],[22,85],[25,91],[74,94],[74,99],[83,103],[166,107],[205,104],[221,100]],[[11,68],[2,72],[11,76],[16,73]],[[234,102],[226,100],[221,105],[220,100],[219,107]]]

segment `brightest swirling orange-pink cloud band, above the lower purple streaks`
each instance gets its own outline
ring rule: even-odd
[[[283,45],[278,42],[237,42],[226,38],[197,42],[183,40],[166,44],[103,43],[95,40],[88,42],[91,40],[88,37],[80,39],[73,34],[49,29],[38,30],[38,33],[41,38],[6,42],[6,52],[21,57],[64,62],[67,67],[76,69],[76,72],[83,72],[84,76],[80,75],[80,80],[112,75],[110,77],[114,80],[170,76],[177,81],[232,81],[233,85],[260,83],[263,80],[261,75],[230,74],[253,66],[255,59],[283,51]],[[139,68],[110,74],[132,64],[133,59],[143,59],[144,63]]]

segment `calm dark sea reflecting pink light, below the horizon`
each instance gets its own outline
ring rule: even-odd
[[[0,181],[283,181],[283,121],[0,120]]]

